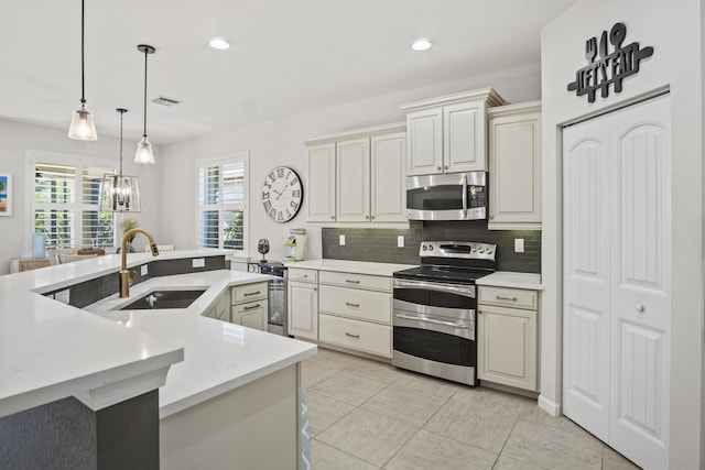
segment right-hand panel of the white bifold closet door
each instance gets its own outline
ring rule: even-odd
[[[668,468],[670,113],[663,96],[611,114],[610,445],[646,468]]]

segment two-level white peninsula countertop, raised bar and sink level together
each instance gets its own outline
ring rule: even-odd
[[[159,259],[218,254],[226,252],[174,251]],[[129,266],[153,260],[149,253],[128,254]],[[259,274],[191,274],[192,285],[209,286],[203,298],[180,311],[139,314],[129,327],[37,294],[117,273],[119,265],[119,255],[106,255],[0,276],[0,417],[70,395],[86,403],[96,389],[147,378],[185,357],[180,369],[172,365],[160,393],[160,413],[167,415],[315,353],[314,345],[200,316],[227,286],[268,278]],[[131,297],[165,278],[133,286]]]

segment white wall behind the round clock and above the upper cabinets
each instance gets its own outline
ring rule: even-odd
[[[393,95],[350,102],[334,108],[322,109],[305,114],[262,122],[245,128],[227,129],[199,139],[180,142],[164,147],[166,164],[164,165],[162,200],[162,232],[167,233],[170,242],[178,248],[196,245],[196,229],[184,223],[195,220],[194,197],[175,197],[174,188],[180,194],[195,195],[193,177],[194,161],[197,159],[221,156],[239,151],[250,151],[250,253],[259,259],[257,240],[268,238],[271,251],[268,259],[281,260],[283,244],[292,228],[306,227],[307,199],[299,215],[288,223],[269,220],[261,206],[260,193],[264,176],[271,168],[289,165],[306,179],[306,155],[303,141],[348,130],[361,129],[378,124],[404,121],[399,106],[419,99],[433,98],[452,92],[476,88],[494,87],[509,102],[528,101],[540,98],[539,64],[527,65],[500,73],[470,77],[464,80],[438,84],[434,87],[400,91]],[[404,84],[399,84],[403,89]],[[321,258],[321,230],[306,227],[308,238],[307,258]]]

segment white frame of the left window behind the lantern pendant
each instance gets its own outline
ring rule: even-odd
[[[26,155],[25,161],[26,161],[28,188],[24,192],[25,198],[26,198],[24,206],[26,208],[25,214],[29,215],[28,220],[25,222],[25,229],[24,229],[26,234],[24,238],[25,252],[28,253],[31,252],[32,236],[35,232],[35,216],[36,216],[35,211],[37,209],[35,172],[36,172],[36,165],[40,163],[73,166],[76,170],[76,176],[74,182],[77,189],[75,190],[74,201],[70,204],[57,204],[56,207],[61,206],[61,207],[65,207],[64,210],[74,211],[74,220],[73,220],[73,227],[72,227],[72,230],[75,231],[74,248],[77,248],[77,249],[80,248],[80,245],[83,244],[83,223],[84,223],[83,212],[90,211],[93,210],[93,207],[94,207],[94,205],[84,203],[84,199],[83,199],[84,170],[86,167],[106,168],[106,170],[111,168],[111,171],[116,173],[118,171],[119,162],[110,159],[100,159],[100,157],[94,157],[94,156],[75,155],[75,154],[58,153],[58,152],[47,152],[47,151],[41,151],[41,150],[26,150],[25,155]],[[97,205],[95,210],[97,210]],[[113,214],[112,248],[116,247],[116,243],[118,240],[118,229],[119,229],[119,221]]]

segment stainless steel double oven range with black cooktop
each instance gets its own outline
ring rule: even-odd
[[[421,266],[393,274],[392,364],[477,385],[477,286],[497,245],[424,241]]]

